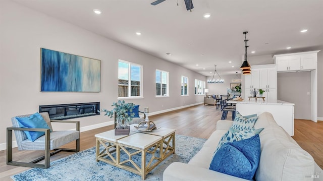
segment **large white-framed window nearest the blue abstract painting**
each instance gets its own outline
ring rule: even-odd
[[[142,96],[142,66],[119,60],[118,97]]]

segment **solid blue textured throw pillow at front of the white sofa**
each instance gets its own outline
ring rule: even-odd
[[[260,139],[255,135],[249,139],[225,143],[213,156],[209,169],[251,180],[260,159]]]

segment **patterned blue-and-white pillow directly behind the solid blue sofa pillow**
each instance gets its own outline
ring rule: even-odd
[[[256,135],[256,133],[260,133],[263,130],[263,128],[256,130],[255,128],[249,129],[249,130],[243,130],[235,132],[233,129],[229,129],[227,133],[225,133],[221,140],[219,141],[218,147],[216,149],[216,152],[224,145],[225,143],[230,143],[234,141],[240,141],[244,139],[248,139]],[[214,152],[215,153],[215,152]]]

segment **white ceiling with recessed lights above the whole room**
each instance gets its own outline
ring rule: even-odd
[[[244,31],[248,56],[323,45],[323,0],[192,0],[192,12],[184,0],[157,6],[150,5],[154,0],[14,1],[205,76],[214,65],[221,75],[240,71]]]

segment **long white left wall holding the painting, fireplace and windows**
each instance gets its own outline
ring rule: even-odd
[[[106,39],[12,1],[0,1],[0,145],[6,142],[11,117],[38,111],[39,105],[79,102],[101,103],[110,109],[118,98],[118,59],[143,65],[143,99],[126,100],[158,112],[203,102],[194,95],[194,79],[205,76],[156,58],[124,44]],[[40,92],[40,48],[101,60],[101,91]],[[170,97],[155,98],[155,70],[170,73]],[[189,96],[181,96],[181,76],[189,78]],[[81,127],[104,124],[103,116],[81,117]],[[73,125],[57,129],[73,129]]]

